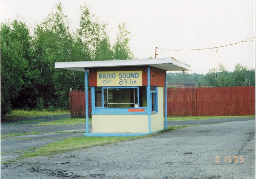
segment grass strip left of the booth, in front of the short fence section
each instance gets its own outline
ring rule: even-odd
[[[39,122],[36,125],[72,125],[85,123],[85,118],[65,118],[60,120],[54,120],[49,122]],[[92,119],[89,118],[89,123],[92,123]]]

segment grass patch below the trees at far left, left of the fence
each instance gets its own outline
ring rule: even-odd
[[[36,110],[13,110],[10,114],[4,116],[5,120],[12,120],[17,119],[20,117],[40,117],[40,116],[56,116],[56,115],[63,115],[63,114],[70,114],[70,111],[36,111]]]

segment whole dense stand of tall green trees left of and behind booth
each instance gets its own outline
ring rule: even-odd
[[[23,22],[1,24],[1,116],[12,108],[67,109],[69,88],[84,90],[84,72],[55,69],[54,62],[93,60],[102,49],[110,52],[102,59],[112,58],[106,24],[84,6],[73,34],[62,10],[55,4],[32,37]]]

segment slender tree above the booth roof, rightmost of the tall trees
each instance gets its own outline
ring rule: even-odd
[[[114,59],[134,59],[134,55],[129,46],[129,34],[131,33],[126,30],[125,22],[123,24],[118,24],[118,34],[116,35],[116,42],[113,46]]]

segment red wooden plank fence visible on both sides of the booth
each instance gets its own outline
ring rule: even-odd
[[[71,117],[85,117],[84,91],[71,91]],[[255,87],[168,88],[167,116],[255,115]],[[89,92],[89,117],[91,117]]]

